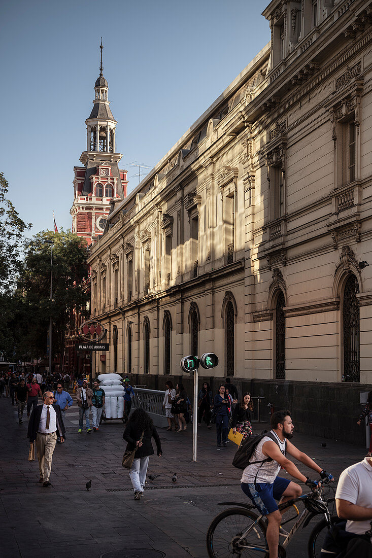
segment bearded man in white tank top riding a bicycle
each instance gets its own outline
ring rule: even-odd
[[[273,413],[270,424],[272,428],[270,436],[265,436],[257,444],[250,458],[250,464],[244,469],[240,482],[243,492],[252,500],[259,512],[267,517],[266,539],[270,558],[278,558],[279,533],[281,531],[280,534],[284,536],[288,533],[280,527],[282,513],[275,500],[284,503],[292,498],[298,498],[302,494],[302,488],[297,483],[278,477],[280,467],[308,486],[318,485],[315,480],[310,480],[299,472],[294,463],[285,455],[287,453],[292,455],[293,458],[316,471],[323,479],[333,480],[333,477],[322,470],[308,455],[291,444],[289,439],[293,436],[294,425],[289,411]]]

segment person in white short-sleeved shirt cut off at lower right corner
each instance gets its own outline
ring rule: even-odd
[[[371,530],[372,458],[366,457],[342,471],[336,490],[336,509],[338,517],[347,519],[346,531],[364,535]],[[366,546],[372,556],[372,547],[368,549],[368,541],[360,541],[359,544]]]

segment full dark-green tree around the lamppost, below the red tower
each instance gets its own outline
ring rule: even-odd
[[[52,284],[50,301],[51,244],[53,242]],[[70,231],[54,233],[43,230],[25,247],[23,270],[18,290],[22,292],[26,327],[18,346],[30,358],[45,355],[50,314],[53,318],[53,355],[64,353],[66,328],[74,312],[87,314],[89,294],[82,283],[88,275],[87,244]]]

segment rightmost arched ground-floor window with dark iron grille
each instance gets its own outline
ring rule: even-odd
[[[346,281],[342,304],[344,330],[343,382],[360,382],[360,322],[357,294],[359,294],[359,283],[355,275],[350,275]]]

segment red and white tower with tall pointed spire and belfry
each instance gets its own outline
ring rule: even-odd
[[[74,202],[70,209],[73,233],[87,240],[97,240],[106,226],[107,215],[114,201],[127,195],[127,171],[120,170],[121,153],[115,150],[117,121],[108,100],[108,83],[103,77],[102,40],[99,76],[94,84],[93,108],[87,124],[87,150],[74,167]]]

